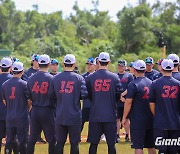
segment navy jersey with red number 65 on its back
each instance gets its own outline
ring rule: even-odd
[[[87,77],[86,85],[92,102],[89,121],[115,122],[116,102],[122,92],[117,74],[100,69]]]

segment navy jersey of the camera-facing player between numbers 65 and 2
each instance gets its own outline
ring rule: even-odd
[[[122,84],[123,92],[127,89],[129,83],[134,79],[133,75],[131,73],[125,72],[124,74],[117,73],[120,82]],[[117,102],[118,107],[124,107],[124,103],[120,100]]]

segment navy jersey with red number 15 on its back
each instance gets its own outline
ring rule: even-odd
[[[64,71],[56,75],[49,89],[49,96],[56,97],[56,124],[77,125],[81,123],[80,99],[88,95],[81,75]]]

